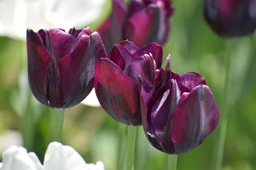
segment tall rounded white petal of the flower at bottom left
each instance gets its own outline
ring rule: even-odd
[[[44,157],[44,170],[82,170],[86,162],[70,146],[50,143]]]

